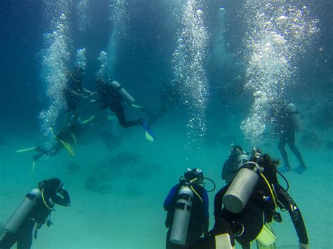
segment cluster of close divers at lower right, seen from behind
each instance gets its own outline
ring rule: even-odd
[[[248,154],[240,145],[233,146],[223,165],[226,185],[214,198],[215,223],[210,231],[207,192],[214,191],[215,184],[199,168],[188,168],[164,201],[169,229],[166,249],[231,249],[235,241],[243,249],[251,248],[254,241],[257,248],[274,249],[276,236],[270,223],[282,222],[279,209],[288,211],[299,248],[309,248],[301,211],[288,193],[289,184],[278,171],[279,164],[256,147]],[[277,174],[287,183],[286,189],[278,182]],[[213,182],[214,188],[207,191],[205,180]]]

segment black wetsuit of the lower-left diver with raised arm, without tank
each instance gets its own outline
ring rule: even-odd
[[[58,196],[54,189],[46,187],[44,189],[44,199],[48,207],[53,208],[54,204],[60,206],[70,206],[70,195],[66,190],[60,192],[63,197]],[[28,198],[34,198],[32,194],[27,194]],[[49,200],[51,198],[51,203]],[[29,249],[32,245],[32,230],[34,224],[37,223],[37,229],[39,229],[45,222],[47,217],[51,214],[52,210],[48,209],[43,200],[39,198],[37,200],[37,206],[35,206],[25,221],[20,225],[18,231],[15,234],[7,233],[0,241],[0,249],[11,248],[17,242],[18,249]],[[35,238],[37,237],[37,231],[35,232]]]

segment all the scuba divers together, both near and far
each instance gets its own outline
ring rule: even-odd
[[[162,90],[157,111],[149,112],[147,109],[135,105],[134,98],[117,82],[111,79],[96,79],[96,91],[83,87],[84,69],[75,67],[68,74],[67,87],[63,89],[67,106],[67,118],[56,135],[56,144],[51,149],[31,147],[20,149],[17,152],[36,151],[33,156],[33,169],[37,159],[41,156],[55,156],[60,149],[65,148],[70,156],[75,156],[73,147],[77,146],[77,136],[86,124],[95,119],[81,120],[78,112],[81,98],[90,99],[90,102],[100,103],[101,109],[110,109],[115,113],[120,126],[143,126],[148,140],[156,139],[148,126],[157,121],[166,112],[179,102],[178,83],[173,83]],[[97,99],[94,96],[99,96]],[[150,121],[143,118],[127,120],[123,102],[131,107],[141,109],[150,116]],[[280,134],[280,149],[285,168],[291,170],[285,145],[289,144],[299,160],[300,166],[296,168],[303,173],[306,165],[299,150],[294,144],[295,130],[301,130],[299,112],[293,104],[287,104],[276,116],[276,128]],[[188,168],[180,178],[179,183],[171,188],[164,201],[164,210],[167,211],[165,225],[166,248],[235,248],[235,241],[242,248],[250,248],[250,243],[256,241],[257,248],[275,248],[276,236],[270,223],[282,222],[282,212],[287,210],[297,236],[299,248],[309,248],[306,227],[299,207],[288,194],[289,184],[285,177],[278,171],[280,161],[272,159],[269,154],[262,154],[260,149],[252,149],[251,154],[243,151],[239,145],[230,150],[230,157],[223,165],[222,179],[226,186],[220,189],[214,198],[214,227],[209,231],[209,198],[208,192],[214,191],[215,184],[204,177],[199,168]],[[287,182],[285,189],[278,182],[277,174]],[[209,180],[214,189],[207,191],[204,183]],[[6,234],[0,241],[0,249],[11,248],[16,242],[18,249],[30,248],[34,225],[37,230],[46,223],[52,224],[51,212],[55,204],[70,206],[70,196],[63,187],[63,182],[58,178],[51,178],[39,182],[36,189],[32,189],[25,196],[17,210],[4,225]]]

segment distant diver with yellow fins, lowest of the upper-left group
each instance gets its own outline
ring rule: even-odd
[[[55,156],[63,148],[66,149],[70,156],[74,157],[75,152],[72,145],[74,145],[74,147],[77,147],[77,136],[80,135],[81,131],[84,128],[83,126],[93,121],[93,119],[95,119],[95,116],[91,116],[89,119],[81,121],[77,113],[73,114],[63,123],[62,128],[60,128],[60,132],[55,136],[56,144],[51,149],[43,149],[37,146],[27,149],[19,149],[16,151],[16,153],[30,152],[33,150],[39,152],[39,154],[32,157],[32,172],[34,171],[37,160],[41,158],[41,156]]]

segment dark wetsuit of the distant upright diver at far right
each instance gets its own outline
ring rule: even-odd
[[[280,134],[278,148],[280,150],[283,163],[285,163],[285,167],[291,168],[288,155],[285,150],[286,144],[289,145],[289,148],[292,150],[292,152],[296,156],[296,159],[299,161],[300,166],[305,167],[301,152],[299,152],[299,149],[297,149],[295,145],[295,128],[287,110],[285,110],[283,116],[280,116],[280,119],[278,119],[278,123],[276,124],[275,129]]]

